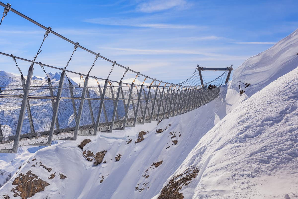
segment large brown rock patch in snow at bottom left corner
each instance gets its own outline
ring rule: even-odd
[[[44,191],[49,183],[38,178],[37,175],[29,170],[26,174],[20,174],[13,181],[13,185],[18,185],[10,191],[14,192],[14,197],[21,196],[22,199],[32,197],[37,192]]]

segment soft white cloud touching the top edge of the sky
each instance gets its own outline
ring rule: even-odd
[[[184,9],[186,7],[188,7],[188,3],[184,0],[153,0],[139,4],[136,10],[144,13],[153,13],[171,8]]]

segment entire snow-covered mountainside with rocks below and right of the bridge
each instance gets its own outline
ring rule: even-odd
[[[194,111],[97,137],[59,141],[34,154],[23,146],[18,155],[1,155],[0,169],[13,176],[0,195],[296,197],[297,44],[298,30],[249,58],[218,98]]]

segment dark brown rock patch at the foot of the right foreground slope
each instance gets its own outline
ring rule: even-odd
[[[191,181],[197,177],[200,170],[196,167],[191,167],[184,170],[183,173],[175,175],[165,186],[162,188],[162,191],[158,199],[183,199],[184,196],[179,190],[182,186],[187,186]]]

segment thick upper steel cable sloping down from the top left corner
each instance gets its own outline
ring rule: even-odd
[[[7,8],[7,7],[8,7],[7,5],[5,5],[4,3],[2,3],[1,1],[0,1],[0,5],[3,6],[4,8]],[[13,8],[10,8],[10,10],[11,10],[13,13],[15,13],[15,14],[17,14],[17,15],[19,15],[19,16],[25,18],[25,19],[27,19],[28,21],[34,23],[35,25],[38,25],[39,27],[41,27],[41,28],[43,28],[43,29],[45,29],[45,30],[48,30],[48,28],[46,28],[44,25],[42,25],[42,24],[40,24],[40,23],[34,21],[33,19],[31,19],[31,18],[25,16],[24,14],[18,12],[17,10],[14,10]],[[56,32],[53,31],[53,30],[51,31],[51,33],[54,34],[54,35],[56,35],[56,36],[58,36],[58,37],[60,37],[60,38],[62,38],[62,39],[64,39],[64,40],[66,40],[66,41],[68,41],[69,43],[72,43],[72,44],[74,44],[74,45],[76,44],[74,41],[71,41],[70,39],[68,39],[68,38],[66,38],[66,37],[64,37],[64,36],[62,36],[62,35],[56,33]],[[92,54],[94,54],[94,55],[96,55],[96,56],[98,55],[98,53],[94,53],[93,51],[91,51],[91,50],[89,50],[89,49],[87,49],[87,48],[85,48],[85,47],[83,47],[83,46],[81,46],[81,45],[79,45],[78,47],[80,47],[81,49],[86,50],[87,52],[92,53]],[[109,61],[109,62],[111,62],[111,63],[114,63],[113,61],[111,61],[111,60],[109,60],[108,58],[105,58],[105,57],[103,57],[103,56],[101,56],[101,55],[99,55],[99,57],[102,58],[102,59],[104,59],[104,60],[106,60],[106,61]],[[119,67],[122,67],[122,68],[124,68],[124,69],[127,69],[127,67],[122,66],[121,64],[118,64],[118,63],[117,63],[116,65],[119,66]],[[46,66],[46,65],[45,65],[45,66]],[[131,71],[131,72],[133,72],[133,73],[137,73],[137,72],[134,71],[134,70],[131,70],[131,69],[128,69],[128,70]],[[143,76],[143,77],[146,77],[146,76],[147,76],[147,75],[144,75],[144,74],[141,74],[141,73],[139,73],[139,75],[141,75],[141,76]],[[154,79],[154,78],[151,78],[151,77],[148,77],[148,78],[151,79],[151,80]],[[161,83],[166,83],[166,82],[164,82],[164,81],[160,81],[160,80],[156,80],[156,81],[159,81],[159,82],[161,82]],[[114,81],[114,82],[117,82],[117,81]],[[177,84],[173,84],[173,85],[177,85]]]

